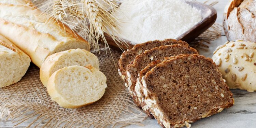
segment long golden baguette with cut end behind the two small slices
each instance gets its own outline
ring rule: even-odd
[[[70,28],[46,17],[33,5],[12,5],[0,1],[0,34],[23,50],[39,68],[47,56],[54,53],[76,48],[90,49],[88,42]]]

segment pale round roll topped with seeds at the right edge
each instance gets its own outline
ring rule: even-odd
[[[212,59],[229,88],[256,90],[256,43],[227,42],[217,47]]]

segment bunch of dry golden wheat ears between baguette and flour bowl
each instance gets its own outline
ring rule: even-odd
[[[111,34],[119,33],[118,20],[113,15],[119,3],[119,0],[49,0],[43,6],[47,7],[45,12],[49,23],[55,20],[73,31],[83,30],[87,33],[83,38],[87,38],[94,49],[99,49],[100,41],[109,47],[105,33],[123,49],[120,44],[128,45]]]

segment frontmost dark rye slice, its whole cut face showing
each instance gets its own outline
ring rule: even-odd
[[[165,60],[146,73],[142,84],[147,107],[166,128],[190,127],[234,103],[215,63],[201,55]]]

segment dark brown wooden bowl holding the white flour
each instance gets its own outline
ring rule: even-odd
[[[185,1],[185,2],[191,5],[192,7],[200,10],[201,16],[202,16],[202,20],[200,22],[198,22],[195,26],[193,26],[192,28],[190,28],[189,30],[181,34],[178,38],[176,38],[176,40],[182,40],[189,43],[189,42],[192,42],[194,39],[196,39],[200,34],[202,34],[205,30],[207,30],[214,24],[217,18],[217,12],[212,6],[209,6],[206,4],[202,4],[196,1]],[[112,49],[121,51],[119,46],[114,42],[114,40],[108,34],[104,33],[104,35],[105,35],[106,41],[108,41],[108,44]],[[128,45],[126,46],[124,44],[120,44],[120,46],[124,49],[131,49],[134,46],[133,45],[134,43],[132,43],[131,41],[118,38],[118,37],[116,38],[120,41],[125,42]]]

